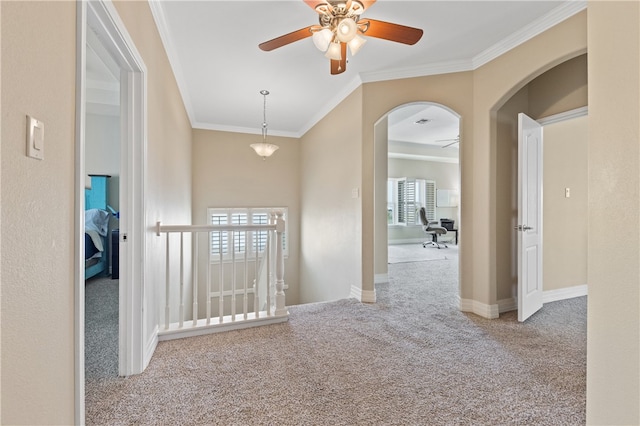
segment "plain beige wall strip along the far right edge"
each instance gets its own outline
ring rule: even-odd
[[[589,2],[587,423],[640,424],[640,3]],[[623,228],[612,235],[615,219]]]

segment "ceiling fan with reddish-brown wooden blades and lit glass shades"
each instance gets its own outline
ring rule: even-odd
[[[311,25],[276,37],[258,45],[271,51],[287,44],[313,37],[318,49],[331,60],[331,74],[340,74],[347,69],[347,46],[355,55],[366,42],[360,35],[381,38],[413,45],[420,40],[423,31],[375,19],[360,18],[360,15],[376,0],[303,0],[318,13],[319,25]]]

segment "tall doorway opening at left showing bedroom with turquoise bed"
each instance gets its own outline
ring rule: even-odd
[[[85,238],[85,380],[118,376],[120,284],[120,67],[87,29],[85,102],[85,229],[97,219],[102,250]],[[89,200],[95,200],[92,204]],[[97,218],[97,219],[96,219]],[[101,265],[101,266],[100,266]]]

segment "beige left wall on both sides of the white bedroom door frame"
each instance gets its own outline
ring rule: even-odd
[[[191,220],[191,127],[148,4],[116,8],[148,70],[145,311],[154,313],[164,261],[152,225]],[[74,423],[75,43],[76,2],[2,2],[3,424]],[[43,161],[25,156],[26,114],[45,123]],[[145,334],[156,324],[152,315]]]

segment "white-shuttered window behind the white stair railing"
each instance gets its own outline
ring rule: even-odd
[[[285,231],[283,236],[284,256],[288,255],[287,234],[289,224],[287,223],[288,210],[286,207],[263,207],[263,208],[209,208],[207,210],[209,223],[211,225],[266,225],[269,223],[271,213],[282,212],[285,220]],[[231,236],[233,234],[233,237]],[[247,256],[253,258],[256,253],[263,253],[267,246],[268,231],[214,231],[210,233],[211,245],[210,256],[212,261],[220,259],[220,253],[224,259],[231,257],[229,242],[233,238],[233,251],[236,256]]]

